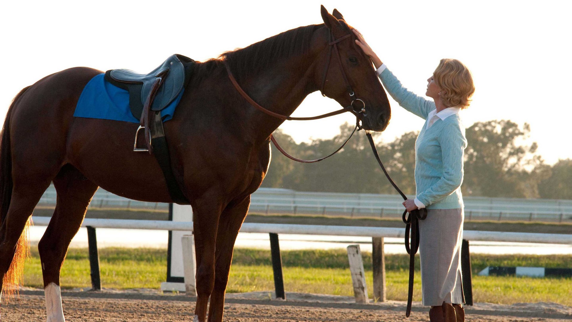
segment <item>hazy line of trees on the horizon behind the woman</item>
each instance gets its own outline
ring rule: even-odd
[[[340,126],[332,139],[296,144],[277,130],[274,135],[290,154],[317,159],[335,151],[353,126]],[[382,133],[372,133],[384,166],[400,189],[415,194],[415,140],[418,132],[404,133],[385,142]],[[511,198],[572,199],[572,160],[553,166],[537,154],[538,144],[527,143],[530,125],[509,120],[477,122],[466,129],[463,195]],[[356,133],[336,155],[321,162],[302,164],[282,155],[272,146],[272,162],[262,187],[336,193],[395,194],[375,160],[363,132]]]

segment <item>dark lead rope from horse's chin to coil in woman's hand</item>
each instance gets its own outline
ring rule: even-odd
[[[390,175],[386,171],[386,167],[383,166],[382,160],[379,159],[378,149],[375,147],[374,139],[371,137],[371,133],[366,132],[367,139],[370,141],[371,150],[374,151],[375,159],[378,160],[379,166],[382,167],[383,173],[386,174],[387,179],[390,180],[392,186],[401,195],[403,200],[407,200],[407,196],[399,189],[394,180],[391,179]],[[419,220],[427,218],[427,209],[415,209],[409,213],[407,217],[407,210],[403,211],[402,220],[405,225],[405,249],[409,254],[409,290],[407,294],[407,309],[405,316],[409,317],[411,315],[411,302],[413,299],[413,281],[415,272],[415,254],[419,249]],[[410,234],[411,229],[411,234]],[[411,236],[411,243],[409,237]]]

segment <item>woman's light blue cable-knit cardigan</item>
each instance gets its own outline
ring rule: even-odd
[[[427,129],[427,115],[436,108],[435,102],[408,91],[387,68],[379,78],[401,107],[425,120],[415,141],[417,199],[427,209],[463,208],[460,186],[467,139],[459,115],[438,119]]]

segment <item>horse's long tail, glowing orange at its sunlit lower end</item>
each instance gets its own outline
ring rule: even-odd
[[[2,139],[0,141],[0,227],[3,225],[3,222],[6,220],[6,215],[8,214],[13,187],[12,154],[10,150],[10,114],[18,99],[28,88],[29,87],[22,89],[22,91],[14,97],[14,100],[12,100],[2,128]],[[22,284],[23,281],[23,264],[26,258],[30,256],[30,244],[28,241],[30,222],[31,219],[26,223],[26,227],[18,239],[14,258],[2,280],[2,293],[5,293],[6,300],[13,297],[14,292],[18,290],[17,286]]]

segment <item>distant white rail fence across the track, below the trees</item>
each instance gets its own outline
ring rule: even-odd
[[[527,220],[572,222],[572,200],[464,197],[465,217],[488,220]],[[54,205],[51,186],[40,199]],[[399,195],[309,193],[287,189],[261,188],[252,194],[251,213],[350,215],[360,217],[399,217],[403,211]],[[120,207],[166,210],[167,203],[141,202],[98,190],[90,207]]]

